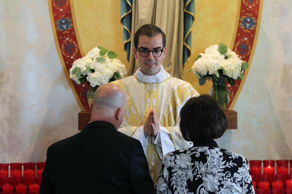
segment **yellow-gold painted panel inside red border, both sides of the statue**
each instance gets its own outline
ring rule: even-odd
[[[93,47],[103,46],[108,50],[115,51],[118,58],[128,68],[126,54],[123,50],[120,1],[71,0],[71,2],[73,22],[75,26],[77,25],[75,31],[77,31],[81,54],[84,56]],[[223,42],[232,49],[235,23],[238,22],[239,3],[239,0],[222,0],[220,3],[216,0],[195,1],[192,53],[184,71],[190,69],[197,55],[204,52],[210,45]],[[184,73],[184,78],[200,94],[208,93],[212,86],[211,81],[207,81],[204,86],[199,86],[199,81],[192,72]]]

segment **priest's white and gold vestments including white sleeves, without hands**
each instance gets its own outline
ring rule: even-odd
[[[163,78],[159,83],[140,81],[135,74],[112,82],[121,87],[128,98],[125,118],[118,131],[140,140],[142,147],[146,149],[154,184],[162,164],[162,154],[158,154],[158,149],[162,148],[164,155],[177,149],[192,147],[192,143],[184,140],[179,131],[179,113],[188,99],[199,95],[190,83],[171,77],[163,68],[162,71]],[[156,112],[159,119],[160,131],[156,139],[161,136],[161,141],[158,143],[152,135],[145,142],[143,126],[151,110]]]

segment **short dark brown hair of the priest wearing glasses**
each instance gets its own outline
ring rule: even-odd
[[[153,36],[156,36],[157,34],[162,35],[162,46],[164,48],[166,44],[165,34],[159,27],[154,26],[152,24],[145,24],[136,31],[135,36],[134,36],[134,47],[138,48],[140,35],[153,37]]]

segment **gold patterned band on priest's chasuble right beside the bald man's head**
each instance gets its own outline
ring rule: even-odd
[[[128,125],[137,126],[131,135],[131,137],[132,137],[134,135],[135,131],[138,129],[138,127],[143,125],[142,119],[138,113],[138,109],[137,109],[137,107],[134,103],[134,100],[133,100],[129,90],[127,89],[126,85],[120,80],[116,80],[116,81],[113,81],[111,83],[116,84],[117,86],[122,88],[126,92],[126,94],[128,95],[127,106],[126,106],[127,111],[125,113],[125,119],[128,122]]]

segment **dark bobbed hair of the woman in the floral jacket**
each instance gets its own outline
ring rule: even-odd
[[[220,138],[227,124],[220,104],[207,94],[192,97],[180,111],[180,131],[187,141]]]

